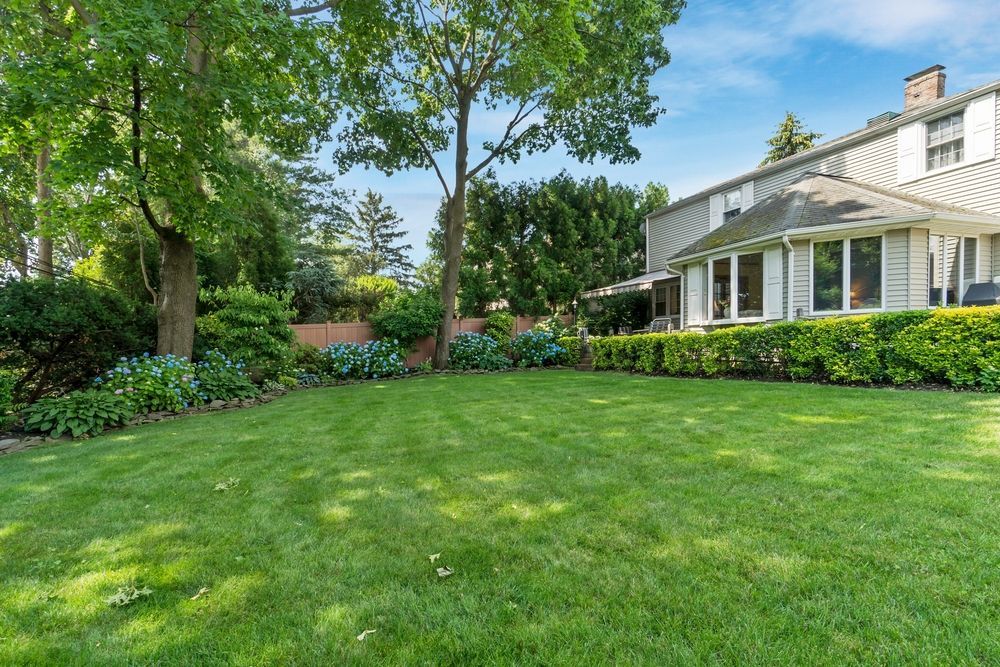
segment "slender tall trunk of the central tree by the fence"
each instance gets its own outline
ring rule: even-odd
[[[441,275],[441,303],[444,316],[434,346],[434,368],[448,368],[451,343],[451,323],[455,317],[455,297],[458,294],[458,272],[462,266],[462,245],[465,236],[465,182],[469,168],[469,111],[471,101],[459,105],[455,132],[455,191],[448,199],[444,222],[444,271]]]

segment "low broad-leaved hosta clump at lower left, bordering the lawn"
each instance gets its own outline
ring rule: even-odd
[[[58,438],[70,433],[97,435],[106,428],[126,423],[135,415],[129,401],[106,391],[74,391],[58,398],[43,398],[24,410],[26,431]]]

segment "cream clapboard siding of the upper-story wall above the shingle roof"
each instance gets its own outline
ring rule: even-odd
[[[897,130],[894,128],[876,133],[864,143],[846,147],[832,155],[798,162],[788,169],[757,176],[748,174],[747,179],[753,181],[754,202],[764,201],[802,174],[815,171],[846,176],[1000,216],[1000,103],[995,104],[994,113],[996,157],[988,162],[898,184]],[[709,195],[704,195],[650,220],[649,270],[663,268],[667,258],[708,233],[708,202]]]

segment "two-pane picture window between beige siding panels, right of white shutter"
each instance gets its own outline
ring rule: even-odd
[[[814,243],[813,312],[881,309],[882,262],[881,236]]]

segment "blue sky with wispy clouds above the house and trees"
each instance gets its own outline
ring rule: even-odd
[[[667,113],[635,133],[641,160],[581,164],[557,147],[496,171],[505,181],[562,169],[635,185],[657,181],[679,199],[753,169],[786,110],[826,141],[900,111],[903,77],[930,65],[947,67],[948,94],[1000,79],[998,34],[998,0],[689,0],[680,22],[664,31],[672,61],[653,88]],[[501,112],[477,112],[473,139],[499,137],[506,122]],[[321,162],[329,154],[321,151]],[[470,162],[478,162],[475,152]],[[414,258],[426,256],[442,196],[433,172],[385,177],[359,167],[339,183],[381,192],[403,217]]]

